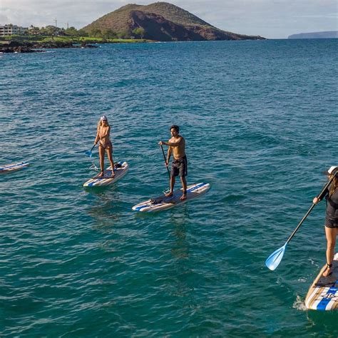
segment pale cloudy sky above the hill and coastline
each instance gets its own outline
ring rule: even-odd
[[[81,29],[130,3],[156,0],[0,0],[0,24]],[[238,34],[286,39],[291,34],[338,30],[338,0],[170,0],[212,26]]]

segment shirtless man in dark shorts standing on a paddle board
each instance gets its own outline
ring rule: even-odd
[[[180,197],[181,200],[187,199],[187,180],[185,177],[188,175],[188,161],[185,155],[185,139],[179,135],[180,128],[178,126],[170,127],[171,138],[168,142],[160,141],[159,145],[168,145],[168,154],[165,165],[168,167],[170,156],[173,153],[173,163],[171,164],[171,175],[170,175],[170,192],[165,194],[166,197],[173,195],[175,178],[180,175],[180,182],[183,187],[183,195]]]

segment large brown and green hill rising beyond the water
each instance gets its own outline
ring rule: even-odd
[[[113,31],[126,38],[136,37],[155,41],[265,39],[262,36],[222,31],[168,2],[156,2],[146,6],[128,4],[93,21],[82,30],[91,36],[95,36],[98,31]]]

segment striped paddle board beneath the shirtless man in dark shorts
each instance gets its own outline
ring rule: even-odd
[[[145,200],[142,203],[138,203],[133,206],[133,210],[142,211],[142,212],[153,212],[160,210],[167,210],[175,207],[175,205],[180,205],[188,200],[193,200],[200,195],[206,193],[210,188],[209,183],[196,183],[193,185],[188,185],[187,187],[187,199],[180,200],[182,196],[183,189],[175,190],[173,196],[165,197],[165,195],[160,195],[157,198],[151,198],[150,200]]]

